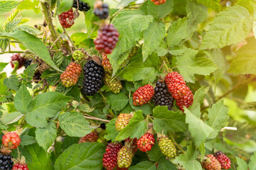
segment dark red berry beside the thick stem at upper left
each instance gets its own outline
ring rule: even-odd
[[[61,26],[63,26],[64,28],[70,28],[75,23],[73,8],[71,8],[69,11],[60,13],[58,17],[59,17]]]

